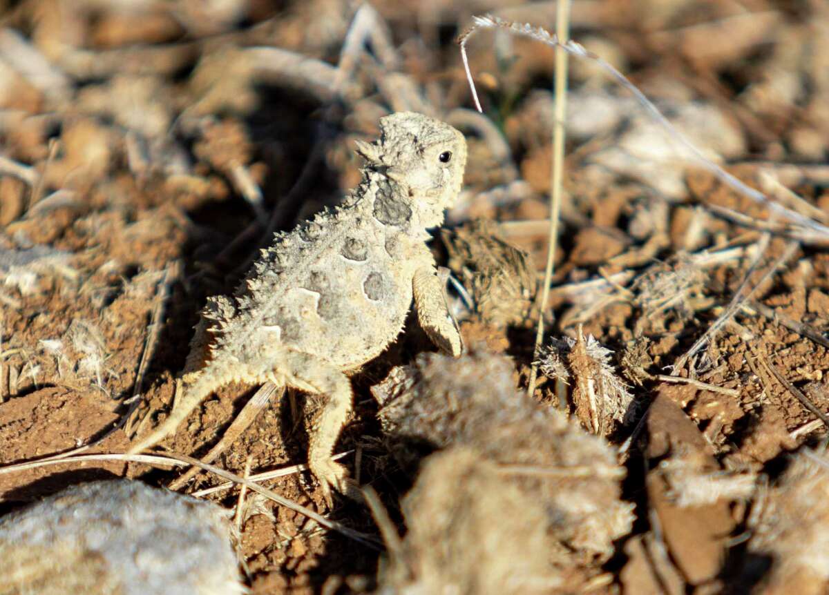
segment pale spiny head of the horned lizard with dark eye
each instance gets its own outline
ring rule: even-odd
[[[371,144],[358,141],[357,152],[370,167],[408,189],[410,206],[424,225],[437,225],[463,186],[467,158],[463,134],[413,112],[385,116],[380,128],[380,139]]]

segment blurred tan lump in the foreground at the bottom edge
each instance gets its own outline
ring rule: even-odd
[[[550,593],[565,578],[541,502],[481,453],[428,457],[401,502],[410,530],[381,566],[377,593]]]

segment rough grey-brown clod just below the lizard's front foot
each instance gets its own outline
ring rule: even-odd
[[[386,433],[402,443],[473,447],[547,513],[550,535],[587,557],[613,553],[633,523],[613,450],[516,390],[509,358],[420,356],[372,389]]]

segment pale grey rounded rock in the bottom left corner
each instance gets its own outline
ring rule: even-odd
[[[223,509],[128,480],[2,517],[0,577],[0,593],[245,593]]]

